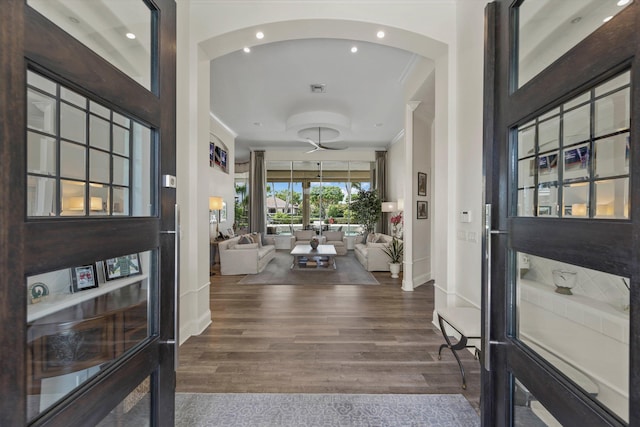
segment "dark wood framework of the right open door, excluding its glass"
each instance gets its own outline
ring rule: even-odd
[[[526,381],[530,391],[567,426],[623,425],[596,401],[585,398],[564,377],[549,369],[544,360],[513,338],[511,319],[514,295],[509,271],[515,260],[509,250],[622,274],[631,277],[629,346],[629,425],[640,424],[640,5],[634,2],[609,23],[563,55],[559,60],[517,90],[511,90],[510,70],[515,46],[511,26],[512,7],[521,2],[497,0],[485,12],[485,104],[484,175],[485,201],[492,205],[491,228],[505,234],[491,239],[491,283],[483,286],[483,315],[490,314],[491,329],[485,330],[493,344],[491,371],[482,371],[482,422],[484,426],[511,423],[509,396],[511,374]],[[510,215],[509,129],[536,117],[547,108],[578,95],[586,88],[631,68],[631,220],[569,220],[525,218]],[[541,236],[551,236],[541,241]],[[568,236],[573,236],[569,239]],[[484,273],[488,273],[484,266]],[[487,277],[486,274],[483,274]],[[490,293],[489,293],[490,292]],[[487,301],[491,300],[491,304]],[[491,308],[487,313],[487,307]],[[486,354],[486,349],[484,353]]]

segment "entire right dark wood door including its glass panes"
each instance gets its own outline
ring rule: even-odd
[[[640,424],[639,6],[486,8],[485,426]]]

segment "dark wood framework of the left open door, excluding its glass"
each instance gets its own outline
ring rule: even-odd
[[[175,78],[176,5],[150,0],[157,9],[152,26],[159,39],[154,69],[157,85],[148,91],[26,5],[6,0],[0,14],[0,425],[25,425],[26,276],[67,268],[123,253],[159,249],[160,289],[151,303],[156,335],[133,354],[72,392],[35,425],[87,425],[99,422],[144,378],[153,375],[161,392],[152,402],[158,425],[173,425],[176,190],[158,188],[158,215],[148,218],[84,220],[26,218],[26,70],[42,71],[81,93],[133,114],[154,128],[161,175],[176,175]],[[153,73],[152,73],[153,74]],[[74,245],[69,245],[69,241]],[[97,244],[99,242],[99,244]],[[159,367],[159,369],[158,369]],[[79,402],[82,399],[82,402]]]

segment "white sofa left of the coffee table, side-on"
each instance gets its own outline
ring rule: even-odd
[[[249,236],[249,235],[245,235]],[[257,236],[257,238],[255,237]],[[243,236],[218,243],[220,274],[257,274],[276,256],[274,245],[262,245],[260,235],[252,236],[254,243],[239,244]]]

